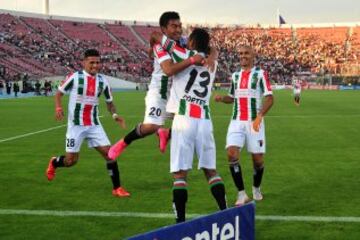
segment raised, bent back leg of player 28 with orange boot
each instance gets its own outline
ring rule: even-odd
[[[79,153],[66,153],[58,157],[50,158],[48,167],[46,169],[46,176],[49,181],[55,178],[56,169],[58,167],[71,167],[74,166],[79,159]]]

